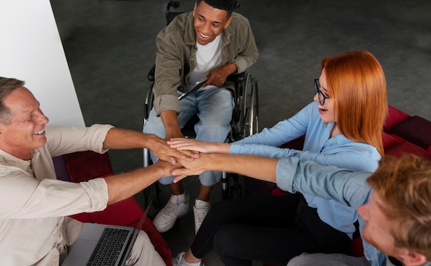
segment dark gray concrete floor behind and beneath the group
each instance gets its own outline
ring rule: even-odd
[[[167,1],[51,0],[86,125],[142,130],[143,103],[154,64],[155,37]],[[193,8],[181,1],[180,11]],[[388,101],[431,120],[431,1],[257,1],[238,10],[251,23],[260,57],[249,72],[259,83],[260,128],[288,118],[313,98],[323,57],[369,50],[386,74]],[[370,107],[372,108],[372,107]],[[114,172],[143,165],[141,150],[109,151]],[[197,194],[196,178],[185,187]],[[156,212],[169,193],[161,187]],[[221,199],[215,187],[211,201]],[[136,195],[142,202],[142,196]],[[163,234],[173,256],[193,241],[193,212]],[[204,258],[220,265],[217,255]],[[256,263],[255,265],[259,265]]]

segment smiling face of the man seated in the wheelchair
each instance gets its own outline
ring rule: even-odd
[[[227,17],[226,10],[220,10],[209,6],[205,1],[201,1],[199,6],[195,3],[193,8],[193,26],[196,32],[196,41],[200,45],[207,45],[218,37],[224,28],[231,23],[231,17]]]

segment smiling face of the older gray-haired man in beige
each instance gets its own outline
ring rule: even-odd
[[[25,87],[14,90],[3,103],[10,109],[11,119],[9,125],[0,123],[1,150],[29,160],[34,149],[46,143],[48,117],[39,108],[39,101]]]

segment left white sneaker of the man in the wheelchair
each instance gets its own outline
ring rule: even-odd
[[[185,195],[185,202],[178,202],[178,196],[172,195],[166,206],[154,217],[154,226],[158,232],[167,232],[171,229],[177,218],[185,216],[189,212],[189,195]]]

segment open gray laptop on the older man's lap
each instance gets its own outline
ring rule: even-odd
[[[123,266],[147,217],[152,199],[136,228],[85,223],[61,266]]]

